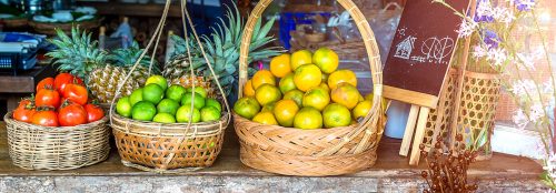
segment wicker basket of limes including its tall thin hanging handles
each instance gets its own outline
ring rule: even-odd
[[[185,0],[180,1],[185,34],[188,34],[187,29],[193,29],[195,40],[206,55],[200,43],[199,37],[195,31],[191,19],[186,9]],[[167,0],[162,18],[158,27],[145,48],[143,53],[137,59],[132,70],[126,75],[125,82],[130,79],[132,71],[141,59],[147,54],[150,48],[157,48],[160,37],[166,26],[166,19],[171,1]],[[190,28],[186,27],[186,21],[189,21]],[[186,41],[188,35],[185,35]],[[152,47],[153,45],[153,47]],[[155,59],[156,49],[152,49],[151,59]],[[189,54],[189,48],[187,47]],[[152,64],[152,63],[151,63]],[[212,122],[201,123],[156,123],[137,121],[119,115],[115,111],[115,102],[118,99],[121,87],[117,89],[116,95],[110,103],[110,123],[116,140],[118,153],[121,156],[121,162],[126,166],[136,167],[139,170],[156,172],[156,173],[179,173],[190,172],[199,169],[211,166],[222,149],[224,134],[231,119],[228,101],[225,99],[225,92],[218,82],[212,67],[209,62],[207,65],[210,69],[212,79],[215,80],[215,90],[220,93],[222,105],[221,119]],[[189,65],[191,68],[191,65]],[[191,69],[187,69],[190,71]],[[192,70],[191,70],[191,75]],[[192,85],[195,87],[195,84]],[[191,106],[192,108],[192,106]]]

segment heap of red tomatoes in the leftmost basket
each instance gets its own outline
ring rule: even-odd
[[[105,111],[91,103],[83,81],[70,73],[46,78],[37,93],[19,102],[17,121],[42,126],[76,126],[105,118]]]

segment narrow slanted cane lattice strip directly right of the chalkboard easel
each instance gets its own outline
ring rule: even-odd
[[[448,136],[448,128],[451,121],[451,106],[454,105],[454,99],[456,96],[455,90],[457,71],[455,69],[450,69],[448,74],[449,77],[447,78],[447,82],[440,93],[437,109],[431,109],[427,118],[427,128],[425,129],[425,138],[423,139],[423,144],[425,144],[427,150],[429,150],[433,145],[435,129],[439,128],[439,134],[441,134],[443,138],[446,139]],[[438,119],[441,120],[438,121]],[[448,140],[444,141],[445,143],[449,142]]]

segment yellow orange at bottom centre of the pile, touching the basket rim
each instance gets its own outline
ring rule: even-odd
[[[315,108],[302,108],[294,118],[294,128],[314,130],[322,128],[322,114]]]

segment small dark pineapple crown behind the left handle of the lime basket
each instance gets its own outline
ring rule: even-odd
[[[110,60],[111,63],[118,67],[132,67],[137,62],[139,57],[141,57],[141,53],[145,49],[139,48],[139,43],[137,43],[137,41],[133,41],[131,43],[131,47],[127,49],[113,50],[108,57],[108,60]],[[145,55],[139,62],[139,65],[149,68],[150,60],[151,58],[149,55]],[[158,67],[157,60],[153,60],[152,62],[152,72],[155,74],[159,74],[160,68]]]

